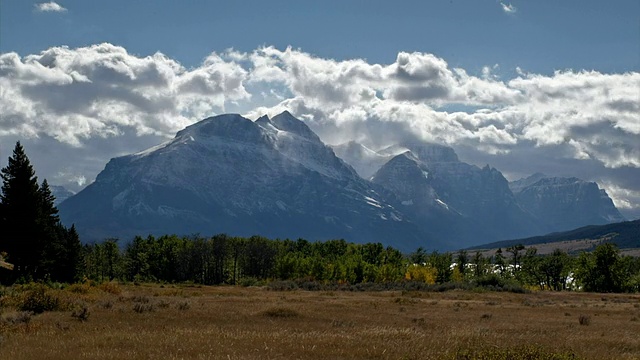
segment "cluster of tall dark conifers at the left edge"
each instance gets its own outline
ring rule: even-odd
[[[38,185],[20,142],[2,169],[2,180],[0,252],[15,265],[15,278],[75,280],[82,251],[78,233],[60,222],[49,184]]]

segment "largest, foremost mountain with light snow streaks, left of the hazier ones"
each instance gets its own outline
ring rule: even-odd
[[[146,151],[112,159],[60,205],[85,240],[146,234],[345,238],[438,247],[288,112],[205,119]]]

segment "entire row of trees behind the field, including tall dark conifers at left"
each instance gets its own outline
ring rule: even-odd
[[[491,256],[465,250],[404,255],[381,243],[342,239],[310,242],[218,234],[137,236],[82,245],[58,218],[47,181],[38,183],[20,143],[3,168],[0,194],[0,282],[158,281],[249,284],[304,280],[336,284],[420,282],[496,285],[510,282],[541,290],[640,291],[640,258],[621,256],[613,243],[571,256],[537,254],[522,245]],[[2,259],[0,259],[2,260]]]

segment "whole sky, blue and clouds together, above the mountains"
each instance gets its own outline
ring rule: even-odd
[[[453,147],[640,218],[640,2],[0,0],[0,166],[78,191],[201,119]]]

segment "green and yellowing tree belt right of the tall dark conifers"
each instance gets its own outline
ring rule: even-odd
[[[525,249],[522,245],[498,249],[493,256],[481,252],[469,255],[465,250],[427,253],[422,248],[403,255],[381,243],[164,235],[137,236],[122,248],[117,239],[87,244],[83,259],[84,276],[96,281],[203,285],[271,280],[337,284],[511,282],[539,290],[640,291],[640,258],[620,255],[613,243],[577,257],[561,250],[538,255],[535,247]]]

